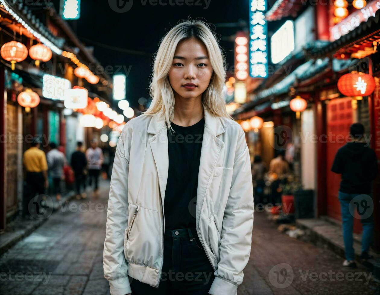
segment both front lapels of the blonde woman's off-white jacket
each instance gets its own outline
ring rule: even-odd
[[[199,163],[198,188],[196,196],[196,226],[206,195],[207,184],[211,177],[217,158],[224,147],[224,143],[217,136],[224,133],[220,119],[213,115],[203,105],[204,111],[204,133],[201,148],[201,159]],[[169,155],[168,155],[168,133],[163,117],[152,116],[148,127],[148,133],[154,134],[149,139],[150,148],[153,153],[157,168],[158,181],[160,184],[161,201],[164,204],[166,183],[168,180]]]

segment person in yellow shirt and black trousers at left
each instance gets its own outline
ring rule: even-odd
[[[47,161],[44,151],[40,150],[40,140],[34,138],[32,145],[24,152],[23,163],[26,170],[26,188],[23,198],[22,215],[30,215],[28,204],[32,198],[43,195],[48,186]]]

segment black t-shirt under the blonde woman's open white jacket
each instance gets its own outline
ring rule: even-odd
[[[204,118],[192,126],[171,122],[168,129],[169,171],[165,190],[165,229],[195,227],[196,194]]]

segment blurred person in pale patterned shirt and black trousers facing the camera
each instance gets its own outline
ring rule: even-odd
[[[95,183],[94,196],[97,197],[99,196],[99,174],[104,157],[101,148],[98,147],[98,141],[96,139],[91,140],[91,147],[86,151],[86,158],[89,168],[89,184],[90,187],[92,187],[92,183]]]

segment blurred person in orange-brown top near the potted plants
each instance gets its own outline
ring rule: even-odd
[[[271,184],[271,203],[281,204],[280,184],[286,182],[287,174],[289,173],[289,164],[285,160],[285,151],[277,151],[275,158],[269,163],[268,174],[272,179]]]

